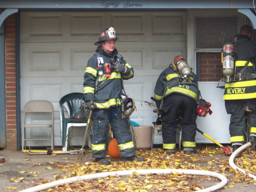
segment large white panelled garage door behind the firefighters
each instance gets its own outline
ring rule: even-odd
[[[134,68],[134,78],[124,86],[138,109],[131,120],[142,125],[157,118],[143,101],[153,102],[150,97],[159,74],[175,56],[186,58],[186,12],[22,12],[20,26],[22,112],[30,100],[52,102],[55,146],[62,145],[59,100],[83,92],[84,70],[103,28],[116,29],[121,38],[116,47]],[[81,145],[80,130],[72,134],[72,144]],[[157,144],[162,136],[155,138]]]

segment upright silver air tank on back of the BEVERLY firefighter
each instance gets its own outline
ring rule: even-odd
[[[221,60],[222,60],[222,72],[226,76],[225,82],[230,83],[233,81],[232,75],[235,71],[235,46],[227,42],[223,45]]]

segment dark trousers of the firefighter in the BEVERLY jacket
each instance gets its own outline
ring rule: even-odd
[[[247,105],[252,111],[250,135],[256,136],[256,99],[247,100],[226,100],[225,107],[230,117],[230,142],[232,146],[244,142],[246,133],[246,114],[244,105]]]

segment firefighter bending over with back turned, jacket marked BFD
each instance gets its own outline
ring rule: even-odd
[[[162,117],[163,148],[174,154],[178,121],[182,127],[182,145],[186,154],[196,153],[196,117],[200,96],[196,74],[182,56],[174,58],[159,76],[154,98]],[[180,120],[177,116],[181,116]]]

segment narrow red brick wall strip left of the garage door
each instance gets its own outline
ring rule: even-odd
[[[5,22],[6,148],[17,149],[16,14]]]

